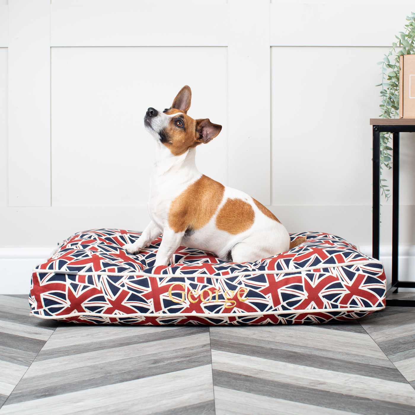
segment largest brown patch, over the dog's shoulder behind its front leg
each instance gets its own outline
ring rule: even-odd
[[[225,186],[203,175],[171,202],[168,225],[174,232],[197,230],[215,214]]]

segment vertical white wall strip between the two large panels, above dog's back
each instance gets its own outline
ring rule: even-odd
[[[229,0],[228,7],[229,186],[269,205],[269,2]],[[246,111],[253,111],[255,115],[241,117]]]

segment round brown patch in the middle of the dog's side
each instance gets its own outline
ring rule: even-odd
[[[242,199],[228,199],[217,214],[216,227],[237,235],[249,229],[255,220],[252,206]]]

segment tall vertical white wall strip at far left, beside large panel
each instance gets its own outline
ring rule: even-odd
[[[50,206],[50,4],[8,10],[9,205]]]

